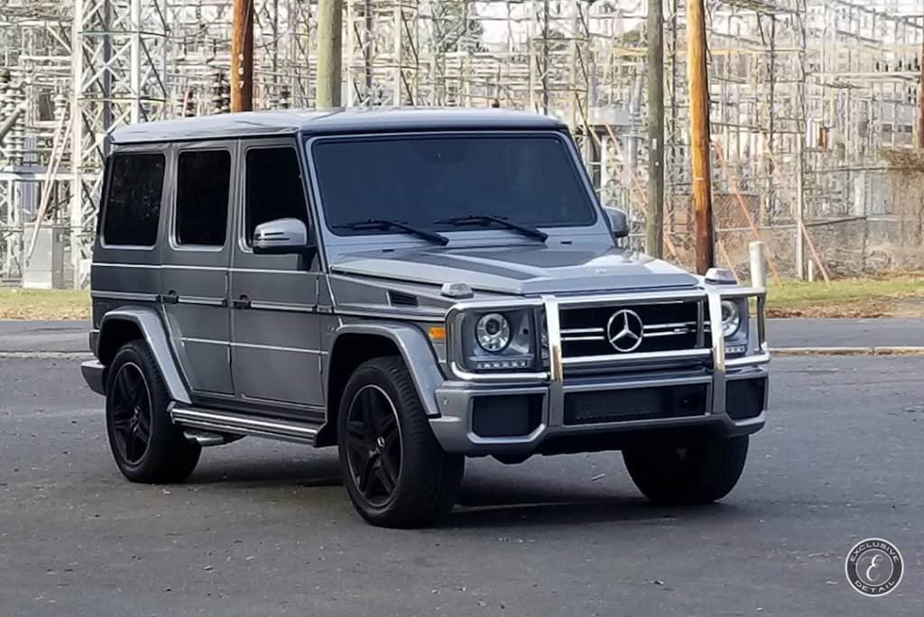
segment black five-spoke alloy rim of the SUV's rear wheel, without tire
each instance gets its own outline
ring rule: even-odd
[[[138,465],[151,442],[151,392],[144,372],[134,362],[119,367],[113,381],[112,430],[119,454]]]

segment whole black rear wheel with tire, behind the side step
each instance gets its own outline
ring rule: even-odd
[[[109,367],[106,433],[116,465],[132,482],[167,484],[188,477],[201,447],[167,412],[170,395],[148,346],[123,345]]]

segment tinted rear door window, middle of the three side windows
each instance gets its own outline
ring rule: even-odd
[[[225,244],[230,184],[230,152],[180,152],[176,163],[177,244]]]

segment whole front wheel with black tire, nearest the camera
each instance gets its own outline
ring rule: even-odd
[[[465,457],[436,441],[399,357],[373,358],[353,372],[337,445],[350,501],[371,525],[430,526],[456,502]]]

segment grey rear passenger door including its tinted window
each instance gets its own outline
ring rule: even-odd
[[[176,356],[195,393],[234,394],[227,268],[236,149],[233,141],[210,141],[177,147],[173,156],[162,298]]]

